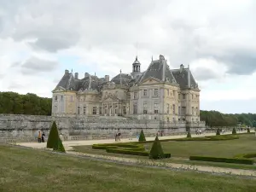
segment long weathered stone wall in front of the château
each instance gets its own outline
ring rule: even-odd
[[[204,123],[166,123],[158,120],[138,120],[119,117],[52,117],[40,115],[0,114],[0,137],[37,137],[38,131],[44,131],[46,136],[53,120],[56,121],[59,131],[64,136],[102,136],[113,137],[118,131],[128,135],[131,131],[136,134],[142,128],[147,136],[154,136],[157,131],[165,135],[174,132],[185,132],[186,127],[195,131],[198,127],[204,128]],[[98,137],[97,137],[98,138]]]

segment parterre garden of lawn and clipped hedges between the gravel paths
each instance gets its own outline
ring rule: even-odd
[[[101,153],[102,151],[102,154],[107,152],[108,155],[124,154],[125,156],[137,156],[137,158],[148,156],[150,159],[161,160],[171,158],[193,160],[193,162],[196,160],[253,165],[256,163],[255,144],[256,137],[249,132],[236,134],[233,131],[232,135],[218,135],[217,131],[216,136],[211,137],[189,137],[188,134],[186,138],[159,141],[156,137],[155,141],[146,141],[142,131],[139,142],[94,144],[87,152],[84,151],[84,148],[88,149],[86,146],[74,148],[85,153],[90,153],[90,151]],[[153,148],[154,145],[159,147]],[[152,153],[156,153],[154,158],[152,158]]]

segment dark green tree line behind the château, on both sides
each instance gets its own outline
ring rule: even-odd
[[[51,98],[32,93],[20,95],[15,92],[0,92],[0,113],[51,115]],[[242,126],[256,127],[256,113],[220,113],[201,110],[200,118],[208,127]]]

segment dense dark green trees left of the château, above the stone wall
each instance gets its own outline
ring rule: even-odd
[[[0,92],[0,113],[50,115],[51,98],[32,93]]]

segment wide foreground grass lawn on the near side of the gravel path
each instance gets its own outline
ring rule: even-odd
[[[0,191],[254,192],[254,179],[121,166],[0,145]]]

